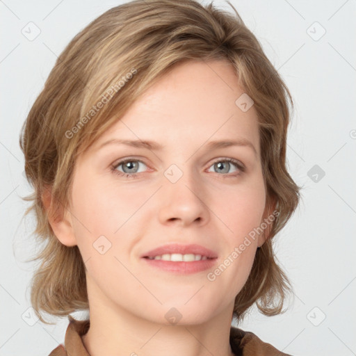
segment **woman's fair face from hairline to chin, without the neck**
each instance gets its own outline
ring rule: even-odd
[[[61,241],[79,246],[90,307],[165,324],[232,312],[264,242],[251,232],[266,203],[257,113],[241,95],[225,60],[181,63],[79,156]],[[169,243],[216,258],[145,258]]]

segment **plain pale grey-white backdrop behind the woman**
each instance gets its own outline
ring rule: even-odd
[[[33,264],[24,261],[34,252],[35,225],[33,216],[23,219],[21,197],[31,186],[19,130],[65,45],[120,3],[0,1],[1,356],[47,356],[67,328],[66,318],[35,323],[29,309]],[[355,0],[232,3],[291,90],[287,157],[302,186],[298,211],[275,238],[294,298],[285,314],[252,310],[239,326],[291,355],[356,355]]]

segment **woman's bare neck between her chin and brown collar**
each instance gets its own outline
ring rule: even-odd
[[[90,328],[82,340],[90,356],[232,356],[232,307],[199,324],[169,325],[164,318],[155,323],[108,300],[92,300]]]

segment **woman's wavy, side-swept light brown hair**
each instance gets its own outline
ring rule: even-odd
[[[272,238],[300,198],[300,188],[286,169],[289,102],[293,107],[293,101],[259,41],[234,12],[194,0],[131,1],[92,21],[58,57],[20,135],[26,177],[33,186],[33,193],[24,197],[33,201],[25,215],[34,211],[35,237],[43,243],[31,259],[40,261],[31,281],[31,303],[42,322],[47,323],[41,312],[67,316],[89,307],[79,248],[58,241],[47,215],[61,216],[69,207],[76,157],[156,79],[185,60],[229,61],[238,85],[254,101],[266,207],[273,207],[279,215],[268,240],[257,249],[248,280],[236,296],[233,316],[241,320],[255,302],[268,316],[283,312],[291,285],[276,263]],[[108,98],[110,88],[113,93]],[[108,100],[94,112],[104,97]],[[47,212],[42,198],[49,189]]]

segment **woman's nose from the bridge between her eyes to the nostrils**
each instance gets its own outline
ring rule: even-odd
[[[164,172],[159,218],[161,223],[181,220],[183,225],[195,220],[206,223],[209,209],[204,204],[204,186],[189,164],[173,163]]]

